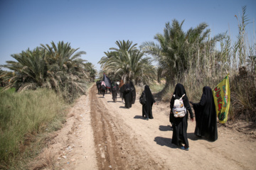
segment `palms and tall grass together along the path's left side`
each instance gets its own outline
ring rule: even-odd
[[[0,169],[27,169],[47,142],[49,132],[62,127],[66,113],[97,74],[70,43],[41,45],[11,55],[0,69]]]

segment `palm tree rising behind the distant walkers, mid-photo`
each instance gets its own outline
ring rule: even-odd
[[[151,65],[150,59],[144,57],[144,52],[137,50],[135,45],[132,45],[132,42],[116,42],[118,48],[110,48],[114,50],[113,52],[105,52],[106,57],[102,57],[99,64],[102,64],[102,69],[108,75],[114,75],[115,79],[123,79],[126,81],[135,81],[139,82],[148,82],[151,79],[154,79],[154,72],[152,74],[146,74],[143,72],[144,69],[151,68],[151,71],[154,71],[153,66]],[[149,65],[146,65],[149,64]],[[148,75],[149,78],[145,78]]]

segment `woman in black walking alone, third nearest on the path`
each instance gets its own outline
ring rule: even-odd
[[[146,95],[146,104],[142,106],[142,117],[146,118],[146,120],[149,120],[149,118],[150,119],[153,118],[152,106],[153,106],[153,103],[156,104],[156,101],[154,99],[154,96],[151,94],[151,91],[148,85],[145,86],[144,94]]]

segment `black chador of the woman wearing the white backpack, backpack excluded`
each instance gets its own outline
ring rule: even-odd
[[[183,96],[183,94],[185,94]],[[182,97],[183,96],[183,97]],[[186,108],[186,115],[183,118],[175,118],[174,113],[172,113],[174,108],[174,100],[179,99],[182,97],[183,104]],[[185,88],[182,84],[176,84],[174,89],[174,96],[171,98],[170,102],[171,113],[170,113],[170,120],[172,120],[173,125],[173,136],[171,143],[174,145],[181,145],[182,143],[185,144],[181,149],[188,150],[188,137],[187,137],[187,129],[188,129],[188,112],[190,113],[191,121],[193,122],[193,112],[191,106],[188,102],[188,96],[186,96]]]

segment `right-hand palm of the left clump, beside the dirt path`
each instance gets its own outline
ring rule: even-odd
[[[48,65],[48,79],[51,86],[56,91],[65,92],[64,98],[73,100],[71,96],[78,93],[85,94],[86,79],[88,75],[85,72],[85,63],[81,55],[86,52],[74,49],[70,43],[54,42],[50,45],[41,45],[41,49],[46,53],[46,63]]]

